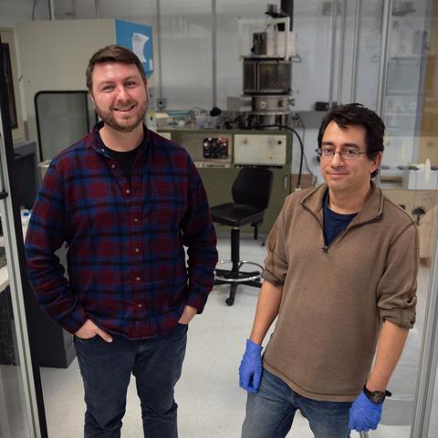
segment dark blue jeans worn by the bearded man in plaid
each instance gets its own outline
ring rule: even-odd
[[[130,373],[141,401],[145,438],[177,438],[173,388],[181,376],[187,325],[153,339],[130,340],[113,335],[111,343],[99,336],[75,336],[84,381],[85,438],[119,438],[125,413]]]

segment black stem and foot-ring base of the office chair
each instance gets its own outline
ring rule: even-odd
[[[256,236],[256,233],[255,233]],[[228,306],[235,304],[235,292],[239,285],[252,287],[261,287],[261,274],[263,266],[255,262],[240,260],[239,255],[240,229],[233,228],[231,230],[231,260],[220,260],[219,265],[231,264],[231,269],[215,269],[214,284],[215,285],[230,285],[230,295],[226,298],[225,303]],[[244,265],[252,265],[258,267],[256,271],[241,271]]]

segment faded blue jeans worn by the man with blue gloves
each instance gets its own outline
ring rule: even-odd
[[[350,407],[349,401],[303,397],[263,369],[258,392],[248,392],[242,438],[284,438],[297,409],[308,419],[315,438],[348,438]]]

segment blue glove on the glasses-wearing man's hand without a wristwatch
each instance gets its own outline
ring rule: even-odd
[[[263,370],[262,349],[261,345],[246,339],[245,354],[239,367],[239,384],[245,391],[253,393],[258,391]]]

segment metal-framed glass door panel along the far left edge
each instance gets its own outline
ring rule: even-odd
[[[0,51],[0,66],[3,56]],[[22,275],[29,212],[22,213],[20,224],[5,84],[5,71],[0,68],[0,436],[34,438],[44,436],[46,423],[27,332],[27,289]]]

